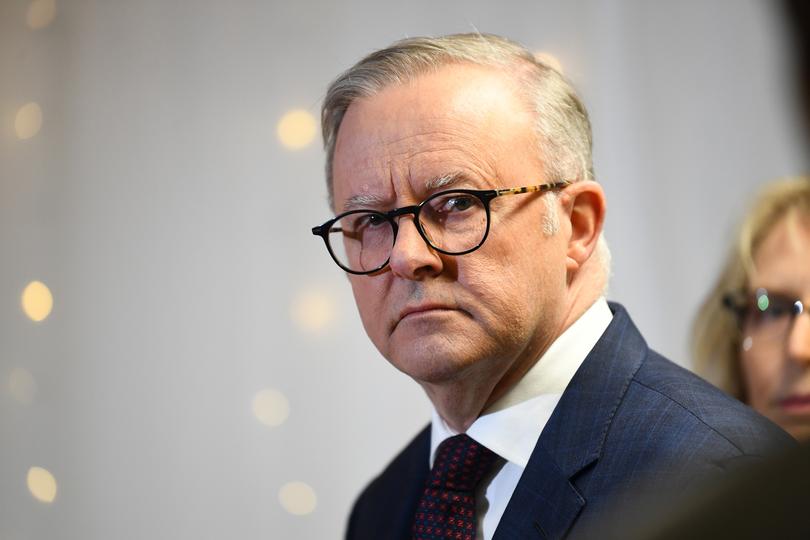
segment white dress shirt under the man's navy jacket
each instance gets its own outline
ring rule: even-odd
[[[529,462],[537,439],[554,412],[579,366],[610,324],[613,314],[604,298],[597,300],[503,397],[487,408],[467,430],[467,435],[502,458],[476,491],[478,536],[490,540],[501,520],[518,480]],[[430,466],[436,449],[457,435],[436,409],[430,433]]]

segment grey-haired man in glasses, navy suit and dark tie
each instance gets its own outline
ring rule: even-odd
[[[313,228],[366,333],[434,414],[360,496],[351,539],[562,538],[788,444],[648,349],[603,297],[585,107],[521,46],[414,38],[323,106],[335,218]]]

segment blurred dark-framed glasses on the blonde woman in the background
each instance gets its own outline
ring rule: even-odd
[[[774,339],[787,336],[793,320],[804,313],[801,300],[777,291],[759,288],[723,296],[723,305],[737,318],[740,330]]]

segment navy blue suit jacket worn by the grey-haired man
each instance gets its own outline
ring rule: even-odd
[[[495,540],[577,536],[643,486],[680,487],[793,440],[650,350],[627,312],[613,321],[546,424]],[[428,474],[425,428],[363,491],[349,540],[406,539]]]

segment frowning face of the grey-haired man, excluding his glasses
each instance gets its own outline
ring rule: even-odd
[[[435,187],[447,177],[470,189],[545,182],[534,116],[514,84],[495,70],[454,65],[353,103],[335,147],[336,211],[418,204],[448,189]],[[543,232],[546,196],[493,200],[486,242],[461,256],[432,250],[413,216],[400,218],[389,266],[349,276],[383,356],[423,385],[472,377],[494,386],[533,362],[569,305],[568,225]]]

